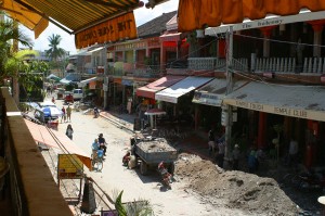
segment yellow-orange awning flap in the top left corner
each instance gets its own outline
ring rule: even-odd
[[[35,39],[48,27],[49,21],[35,11],[30,11],[13,0],[2,0],[0,9],[13,20],[16,20],[30,30],[34,30]]]

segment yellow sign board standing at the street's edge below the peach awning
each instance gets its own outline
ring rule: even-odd
[[[76,154],[58,154],[57,178],[82,178],[83,164]]]

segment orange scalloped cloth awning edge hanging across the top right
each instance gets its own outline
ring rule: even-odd
[[[300,9],[324,11],[324,0],[180,0],[179,31],[191,31],[221,24],[242,23],[244,18],[259,20],[266,14],[294,15]]]

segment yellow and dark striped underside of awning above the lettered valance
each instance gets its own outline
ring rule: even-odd
[[[15,0],[79,33],[139,8],[139,0]]]

